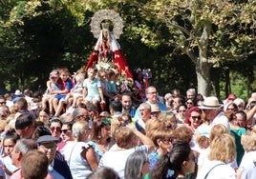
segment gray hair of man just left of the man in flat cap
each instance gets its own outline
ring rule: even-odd
[[[36,144],[32,139],[20,139],[15,145],[15,152],[21,152],[22,155],[32,149],[36,149]]]

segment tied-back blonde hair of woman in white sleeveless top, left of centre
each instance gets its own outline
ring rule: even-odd
[[[80,141],[85,130],[89,129],[89,124],[86,121],[76,121],[72,127],[73,136]]]

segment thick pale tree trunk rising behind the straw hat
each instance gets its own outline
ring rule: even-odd
[[[210,95],[210,69],[212,64],[208,63],[205,59],[201,59],[200,62],[196,64],[196,73],[198,79],[198,93],[203,94],[203,96]]]

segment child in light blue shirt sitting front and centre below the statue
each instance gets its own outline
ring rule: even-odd
[[[105,104],[100,82],[96,79],[96,69],[89,68],[88,78],[83,82],[83,95],[85,104],[93,103],[97,106],[98,102]]]

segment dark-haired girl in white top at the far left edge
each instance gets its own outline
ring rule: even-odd
[[[8,130],[3,141],[3,155],[2,162],[4,164],[4,171],[6,172],[6,178],[10,178],[11,174],[18,168],[16,168],[11,161],[11,152],[19,139],[18,134],[15,133],[14,129]]]

